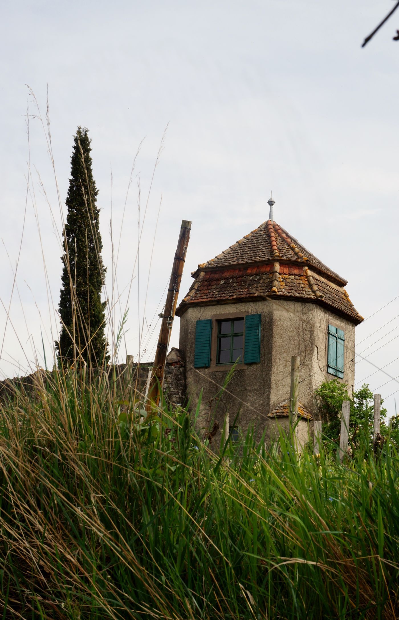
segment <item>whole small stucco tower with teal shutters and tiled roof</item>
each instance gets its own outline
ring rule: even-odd
[[[220,433],[228,425],[234,438],[254,425],[273,438],[276,422],[287,424],[291,356],[299,355],[305,441],[317,417],[315,388],[337,378],[353,390],[354,331],[363,318],[347,281],[275,223],[272,211],[191,275],[176,314],[191,410],[203,391],[197,427]]]

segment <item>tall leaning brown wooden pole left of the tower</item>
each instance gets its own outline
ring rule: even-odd
[[[151,381],[148,389],[148,400],[146,404],[147,411],[151,410],[153,405],[159,405],[160,387],[164,382],[164,371],[166,363],[166,355],[170,340],[170,332],[172,330],[173,319],[177,306],[178,293],[180,290],[180,281],[182,281],[182,273],[186,258],[188,241],[190,240],[191,222],[183,219],[178,236],[177,249],[175,259],[173,260],[172,274],[170,275],[168,294],[165,301],[164,314],[162,314],[162,323],[160,325],[159,339],[155,354],[154,366],[152,368]]]

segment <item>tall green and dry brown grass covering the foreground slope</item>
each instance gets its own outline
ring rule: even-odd
[[[1,404],[0,618],[399,616],[389,442],[343,465],[250,433],[211,451],[136,400],[54,370]]]

